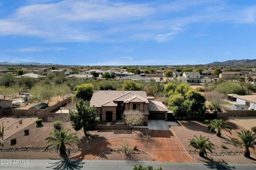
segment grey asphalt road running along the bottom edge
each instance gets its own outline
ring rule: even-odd
[[[27,161],[27,162],[26,162]],[[10,164],[6,164],[6,163]],[[137,162],[138,163],[138,162]],[[22,165],[23,164],[23,165]],[[59,160],[15,160],[0,159],[0,169],[86,169],[86,170],[132,170],[134,162],[122,160],[82,160],[81,162],[60,162]],[[170,163],[170,162],[139,162],[142,165],[162,166],[163,170],[204,170],[204,169],[236,169],[256,170],[256,164],[211,164],[211,163]]]

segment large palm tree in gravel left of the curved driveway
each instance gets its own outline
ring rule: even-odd
[[[78,144],[79,142],[76,134],[69,131],[69,129],[55,129],[54,132],[50,133],[50,137],[45,139],[47,143],[51,143],[45,149],[57,148],[61,156],[67,156],[65,145],[72,146],[73,143]]]

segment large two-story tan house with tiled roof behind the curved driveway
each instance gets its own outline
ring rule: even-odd
[[[90,105],[95,106],[96,116],[102,122],[122,120],[125,112],[139,110],[144,115],[144,122],[149,119],[167,120],[169,111],[161,101],[148,100],[145,91],[95,91]]]

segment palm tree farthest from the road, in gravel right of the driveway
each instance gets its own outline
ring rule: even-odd
[[[231,128],[228,126],[227,122],[224,122],[221,119],[211,121],[209,127],[210,127],[210,131],[217,130],[216,131],[217,137],[221,136],[222,129],[227,130],[231,134],[230,132]]]

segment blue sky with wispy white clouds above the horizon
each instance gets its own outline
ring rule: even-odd
[[[182,65],[256,59],[256,2],[0,1],[0,62]]]

